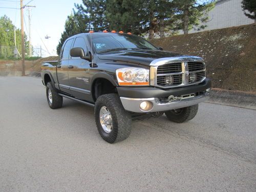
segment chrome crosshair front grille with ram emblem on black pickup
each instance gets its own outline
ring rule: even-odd
[[[161,59],[159,62],[153,63],[154,65],[151,65],[151,85],[173,88],[197,84],[205,79],[203,61],[190,58],[178,61],[168,62],[168,60]]]

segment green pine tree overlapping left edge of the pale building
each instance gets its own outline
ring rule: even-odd
[[[174,0],[173,3],[176,7],[176,18],[180,20],[177,28],[182,29],[184,34],[188,34],[192,28],[204,29],[208,21],[208,12],[214,7],[213,0]]]

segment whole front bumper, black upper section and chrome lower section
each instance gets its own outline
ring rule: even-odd
[[[151,112],[163,112],[174,109],[185,108],[203,102],[208,99],[211,83],[209,79],[205,79],[204,82],[182,88],[174,88],[169,90],[162,90],[158,88],[122,88],[117,89],[122,102],[123,108],[126,111],[135,113],[151,113]],[[170,95],[176,97],[181,95],[187,95],[191,93],[197,93],[193,97],[176,99],[176,100],[163,100]],[[143,111],[140,108],[140,104],[143,101],[149,101],[152,104],[152,109]]]

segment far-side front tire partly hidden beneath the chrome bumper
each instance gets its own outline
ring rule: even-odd
[[[178,111],[178,112],[177,112]],[[193,119],[198,112],[198,104],[187,106],[186,108],[181,108],[178,110],[170,110],[165,112],[165,115],[170,121],[176,123],[183,123]]]

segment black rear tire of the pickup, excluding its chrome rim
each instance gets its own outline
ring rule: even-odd
[[[50,102],[49,100],[49,89],[51,90],[51,93],[52,93],[52,102]],[[58,109],[62,107],[63,98],[58,95],[58,92],[53,87],[52,82],[48,82],[46,85],[46,97],[47,97],[47,102],[51,109]]]

